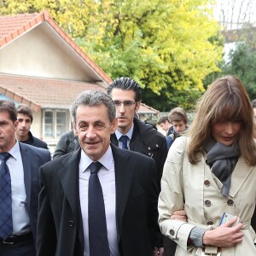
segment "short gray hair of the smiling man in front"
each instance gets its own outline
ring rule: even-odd
[[[112,123],[115,119],[115,105],[110,96],[108,96],[102,90],[84,90],[72,103],[70,107],[70,113],[73,119],[73,123],[76,123],[76,114],[79,105],[84,106],[100,106],[104,104],[107,108],[108,119]]]

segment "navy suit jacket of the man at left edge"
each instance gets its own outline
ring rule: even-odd
[[[49,150],[36,148],[24,143],[20,144],[20,154],[24,168],[26,189],[26,207],[31,224],[34,241],[37,237],[38,194],[40,191],[38,170],[50,160]]]

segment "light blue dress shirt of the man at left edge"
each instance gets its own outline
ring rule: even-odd
[[[26,190],[24,183],[24,168],[18,142],[9,150],[11,156],[6,161],[11,177],[13,235],[19,236],[31,230],[26,211]],[[1,161],[1,160],[0,160]]]

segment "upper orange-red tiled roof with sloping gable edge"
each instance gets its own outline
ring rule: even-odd
[[[25,15],[7,15],[0,16],[0,49],[5,45],[9,44],[15,38],[20,37],[25,32],[28,32],[35,26],[40,25],[42,22],[48,22],[50,26],[55,29],[61,38],[63,38],[67,44],[69,44],[83,59],[86,61],[90,67],[92,67],[96,73],[98,73],[106,83],[111,83],[112,79],[108,77],[106,73],[102,71],[100,67],[96,65],[94,61],[90,59],[88,55],[84,53],[82,49],[79,48],[78,44],[73,42],[67,33],[65,33],[60,26],[55,23],[47,11],[42,11],[40,14],[25,14]]]

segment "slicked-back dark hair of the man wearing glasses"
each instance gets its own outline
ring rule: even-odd
[[[142,100],[142,90],[137,82],[130,78],[119,78],[113,80],[112,84],[108,86],[107,93],[111,96],[111,92],[114,88],[121,90],[133,90],[135,92],[135,101],[140,102]]]

